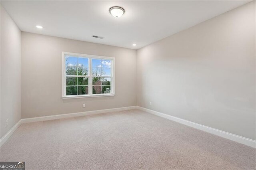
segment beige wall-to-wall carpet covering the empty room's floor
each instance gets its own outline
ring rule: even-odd
[[[0,161],[26,169],[256,169],[256,149],[139,110],[21,125]]]

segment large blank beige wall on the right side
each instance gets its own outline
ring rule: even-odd
[[[139,49],[137,104],[255,140],[255,24],[254,1]]]

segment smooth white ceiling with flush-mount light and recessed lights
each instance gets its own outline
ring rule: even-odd
[[[247,2],[25,0],[1,3],[24,32],[138,49]],[[112,6],[123,7],[125,14],[114,18],[108,12]],[[133,47],[133,43],[137,46]]]

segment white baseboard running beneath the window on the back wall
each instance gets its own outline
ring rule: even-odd
[[[78,117],[78,116],[86,116],[86,115],[95,115],[95,114],[100,114],[100,113],[126,111],[126,110],[130,110],[130,109],[136,109],[136,106],[119,107],[119,108],[114,108],[114,109],[102,109],[102,110],[86,111],[86,112],[78,112],[78,113],[68,113],[68,114],[62,114],[62,115],[32,117],[32,118],[21,119],[21,121],[22,121],[22,123],[30,123],[30,122],[62,119],[62,118],[68,118],[68,117]]]

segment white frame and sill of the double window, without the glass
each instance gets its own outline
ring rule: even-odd
[[[66,57],[65,55],[72,55],[77,57],[88,58],[88,67],[89,67],[89,77],[88,80],[88,95],[66,95]],[[92,76],[92,59],[107,59],[111,60],[111,76]],[[114,96],[115,95],[115,58],[106,57],[99,55],[88,55],[88,54],[79,54],[79,53],[70,53],[62,52],[62,99],[75,99],[75,98],[85,98],[85,97],[105,97],[105,96]],[[92,77],[110,77],[110,93],[108,94],[92,94]]]

